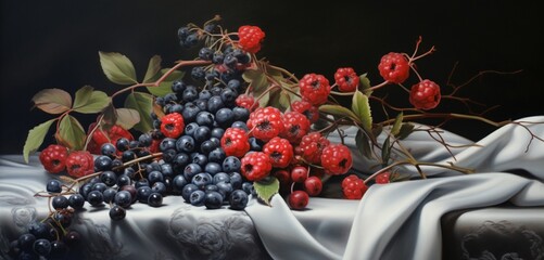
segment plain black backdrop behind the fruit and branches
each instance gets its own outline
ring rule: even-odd
[[[192,57],[194,51],[179,47],[177,29],[215,14],[231,31],[245,24],[263,28],[266,40],[260,56],[299,77],[319,73],[332,79],[336,68],[352,66],[376,83],[381,80],[379,58],[390,51],[412,53],[422,36],[421,48],[435,46],[438,52],[417,63],[419,72],[443,91],[457,62],[454,83],[480,70],[522,69],[516,75],[484,75],[459,94],[499,105],[486,115],[494,120],[543,115],[544,23],[537,3],[2,0],[0,154],[22,153],[27,131],[52,118],[30,109],[30,99],[39,90],[60,88],[73,94],[90,84],[111,94],[118,88],[102,74],[98,51],[127,55],[141,78],[154,54],[163,57],[163,66]],[[443,109],[459,108],[447,104]],[[493,130],[464,121],[448,129],[472,140]]]

